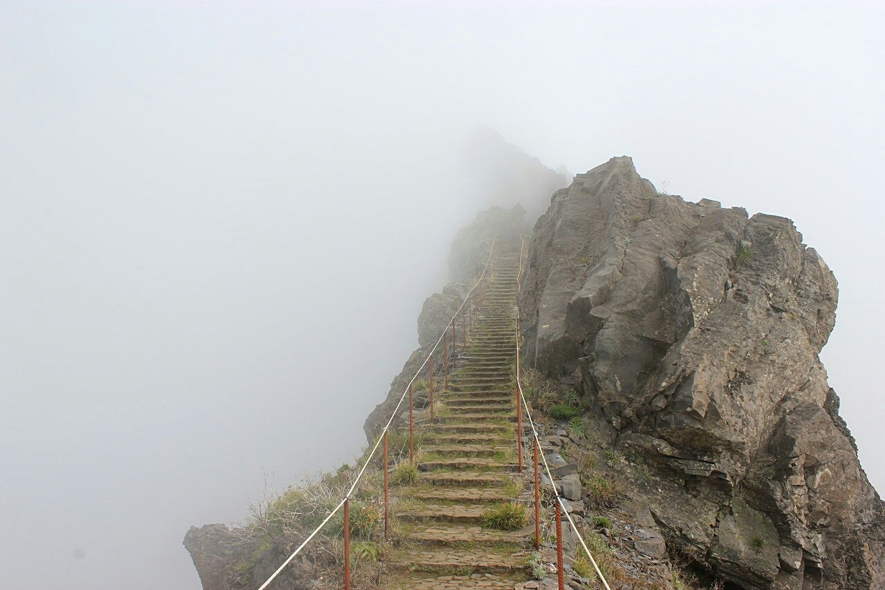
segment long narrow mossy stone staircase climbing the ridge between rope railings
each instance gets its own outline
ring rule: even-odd
[[[527,579],[533,526],[504,532],[481,524],[488,508],[513,501],[522,486],[512,385],[519,249],[500,248],[492,268],[449,386],[435,394],[442,403],[421,437],[419,483],[398,492],[390,588],[512,589]]]

